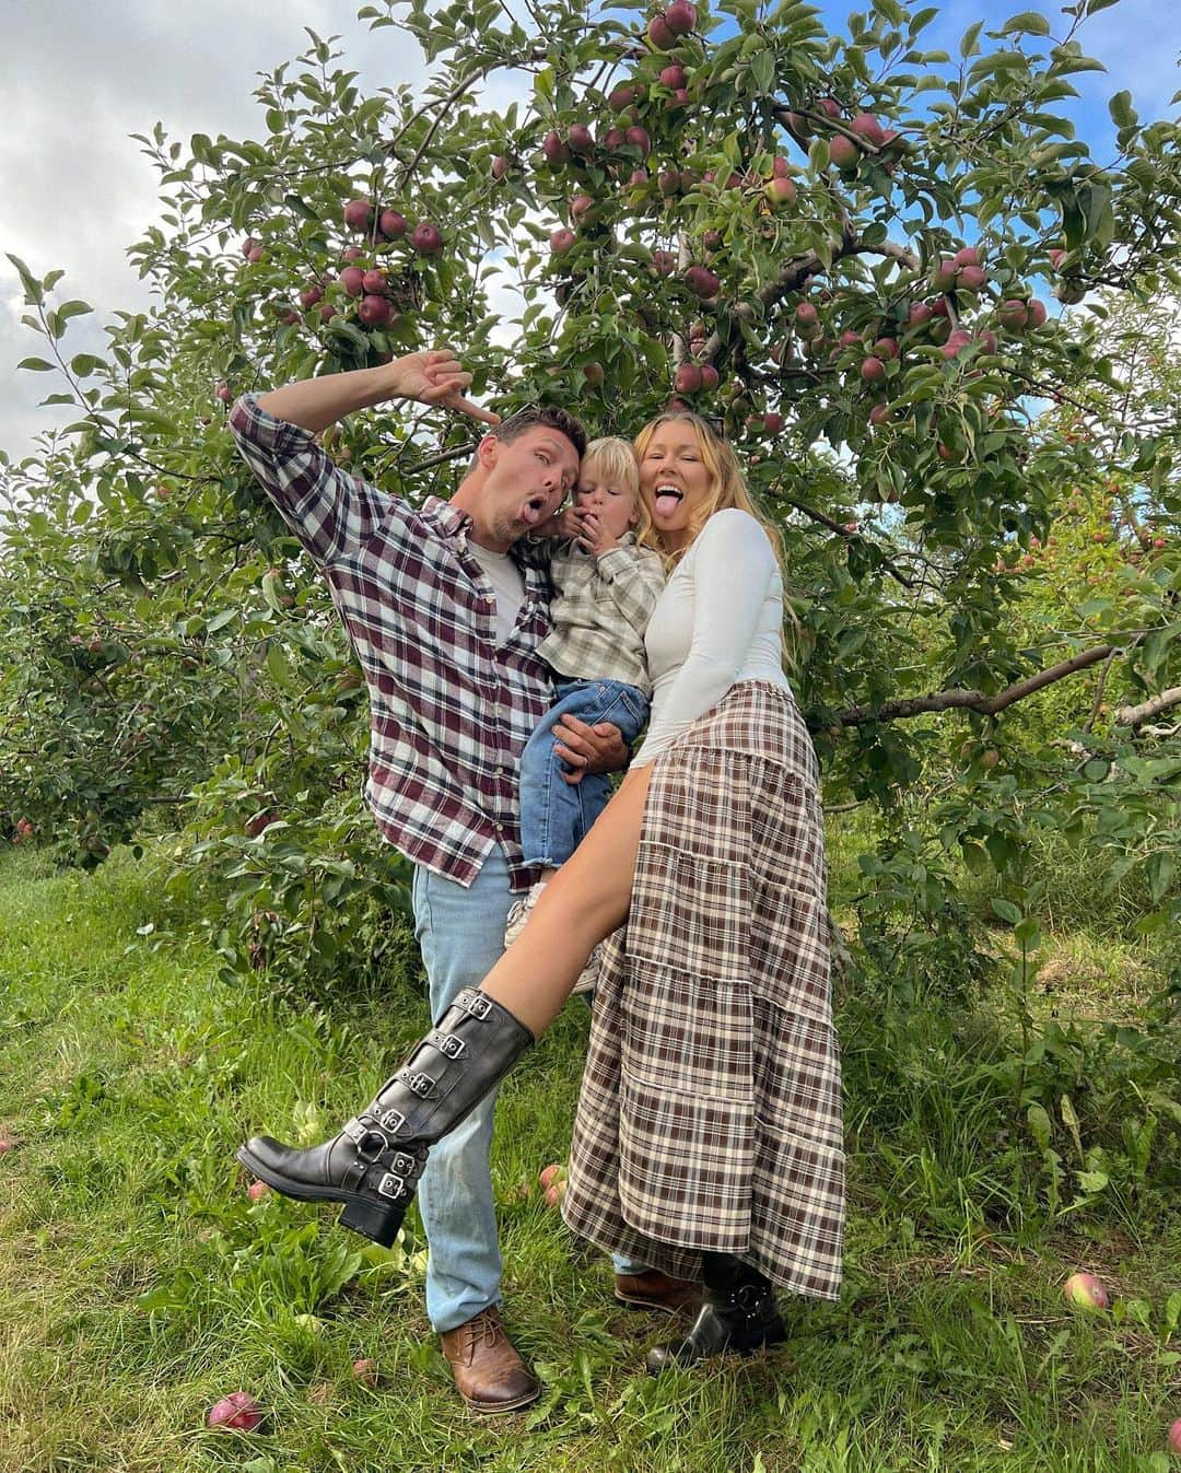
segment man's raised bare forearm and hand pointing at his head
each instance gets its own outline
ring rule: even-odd
[[[277,420],[297,424],[312,435],[320,435],[330,424],[373,408],[386,399],[417,399],[418,404],[437,404],[445,409],[456,409],[473,420],[499,424],[499,414],[482,409],[465,399],[462,390],[471,386],[471,374],[449,348],[434,348],[424,354],[406,354],[393,358],[377,368],[356,368],[353,373],[325,374],[322,379],[303,379],[274,389],[258,399],[258,407]]]

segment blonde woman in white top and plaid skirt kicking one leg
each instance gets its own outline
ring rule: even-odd
[[[239,1153],[392,1242],[430,1145],[604,956],[563,1205],[574,1231],[704,1280],[649,1370],[783,1337],[775,1286],[835,1298],[844,1228],[816,759],[782,672],[782,579],[732,449],[691,414],[636,439],[670,579],[646,633],[644,748],[484,978],[314,1150]]]

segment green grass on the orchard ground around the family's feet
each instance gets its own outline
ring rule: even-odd
[[[1056,959],[1060,1006],[1134,1002],[1104,943],[1069,937]],[[383,1254],[327,1211],[252,1203],[233,1161],[247,1124],[314,1136],[342,1118],[424,1019],[414,975],[331,1012],[222,980],[149,860],[0,862],[0,1125],[18,1142],[0,1156],[3,1473],[1163,1473],[1181,1227],[997,1211],[1034,1187],[997,1177],[987,1010],[972,1044],[934,1013],[884,1033],[850,1009],[841,1302],[785,1304],[775,1355],[652,1380],[638,1367],[667,1326],[616,1307],[607,1262],[536,1186],[573,1112],[586,1018],[567,1009],[505,1086],[495,1152],[505,1314],[546,1392],[468,1417],[414,1230]],[[1115,1312],[1066,1309],[1079,1267]],[[264,1427],[208,1432],[240,1388]]]

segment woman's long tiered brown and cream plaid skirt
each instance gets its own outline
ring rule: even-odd
[[[844,1186],[816,756],[791,694],[744,681],[654,763],[563,1215],[677,1277],[707,1249],[835,1299]]]

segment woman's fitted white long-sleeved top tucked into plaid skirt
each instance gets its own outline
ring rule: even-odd
[[[648,622],[652,716],[642,767],[682,736],[739,681],[783,675],[783,580],[755,518],[716,511],[673,570]]]

